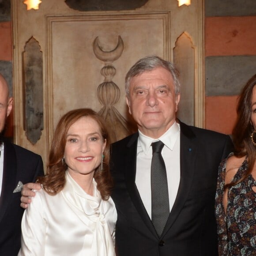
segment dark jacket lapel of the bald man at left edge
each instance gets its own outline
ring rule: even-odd
[[[17,159],[14,147],[11,143],[4,142],[4,169],[2,192],[0,196],[0,221],[11,201],[13,190],[16,187]]]

